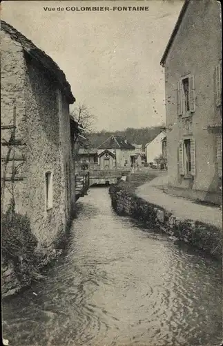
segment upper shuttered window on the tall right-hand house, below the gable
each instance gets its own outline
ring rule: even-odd
[[[190,116],[195,112],[195,82],[193,75],[180,78],[177,85],[177,115]]]

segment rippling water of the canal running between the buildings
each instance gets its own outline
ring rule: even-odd
[[[66,253],[44,275],[3,300],[3,337],[10,346],[222,340],[220,262],[120,217],[108,188],[90,188],[77,201]]]

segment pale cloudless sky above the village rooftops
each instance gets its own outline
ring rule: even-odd
[[[165,122],[160,60],[181,0],[2,1],[1,19],[45,51],[66,74],[75,106],[95,116],[95,130]],[[43,7],[63,7],[46,11]],[[68,11],[66,7],[147,6],[148,11]],[[74,106],[71,106],[71,110]]]

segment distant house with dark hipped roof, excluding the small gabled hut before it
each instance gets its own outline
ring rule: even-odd
[[[133,165],[135,147],[122,136],[110,136],[105,140],[105,142],[97,148],[98,156],[101,152],[104,152],[105,149],[115,154],[115,159],[113,158],[113,168],[130,167]],[[100,165],[100,161],[98,161],[98,164]]]

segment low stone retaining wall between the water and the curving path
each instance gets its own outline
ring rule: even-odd
[[[178,219],[164,208],[129,194],[118,185],[111,185],[109,193],[113,208],[119,215],[130,215],[148,228],[159,228],[217,259],[222,258],[222,230],[200,221]]]

